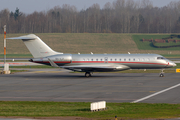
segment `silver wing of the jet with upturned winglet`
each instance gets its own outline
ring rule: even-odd
[[[81,71],[81,72],[106,72],[106,71],[122,71],[130,69],[126,65],[113,65],[113,64],[86,64],[86,65],[68,65],[68,66],[58,66],[52,60],[48,58],[51,66],[61,67],[64,69],[72,71]]]

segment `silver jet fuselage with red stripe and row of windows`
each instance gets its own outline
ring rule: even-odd
[[[157,54],[60,54],[49,56],[59,67],[73,71],[121,71],[126,69],[162,69],[176,64]],[[47,58],[32,59],[33,62],[50,65]],[[95,69],[91,66],[114,66],[114,69]],[[122,66],[123,65],[123,66]],[[70,67],[68,67],[70,66]],[[72,67],[74,66],[74,67]],[[87,66],[86,68],[76,66]],[[120,69],[121,68],[121,69]]]

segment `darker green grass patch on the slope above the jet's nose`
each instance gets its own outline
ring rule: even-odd
[[[138,49],[140,49],[140,50],[166,50],[166,51],[170,51],[170,50],[173,50],[173,51],[175,51],[175,50],[180,50],[180,47],[172,47],[172,48],[155,48],[155,47],[153,47],[153,45],[152,45],[152,43],[151,42],[148,42],[148,41],[145,41],[145,42],[142,42],[141,40],[142,40],[142,38],[144,38],[144,39],[151,39],[151,38],[153,38],[153,39],[162,39],[162,38],[166,38],[166,37],[168,37],[169,35],[151,35],[151,34],[149,34],[149,35],[132,35],[132,38],[133,38],[133,40],[135,41],[135,43],[136,43],[136,45],[137,45],[137,47],[138,47]],[[157,43],[158,45],[163,45],[163,44],[168,44],[168,43]],[[171,43],[169,43],[170,45],[172,44],[172,42]],[[177,45],[179,45],[179,42],[177,43]]]

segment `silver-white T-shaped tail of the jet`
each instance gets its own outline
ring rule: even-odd
[[[34,34],[7,39],[21,39],[34,58],[43,58],[56,54],[63,54],[52,50],[38,36]]]

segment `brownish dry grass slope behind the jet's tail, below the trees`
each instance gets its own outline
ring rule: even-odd
[[[26,34],[8,34],[16,37]],[[104,33],[37,33],[53,50],[64,53],[121,53],[136,49],[131,35]],[[3,38],[3,34],[0,34]],[[137,50],[137,49],[136,49]],[[3,54],[3,47],[0,51]],[[21,40],[7,40],[7,54],[30,54]]]

